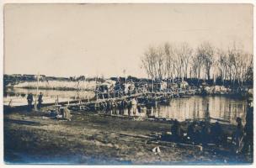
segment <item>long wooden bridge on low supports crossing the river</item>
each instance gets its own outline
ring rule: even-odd
[[[181,92],[183,96],[186,96]],[[78,111],[97,111],[102,106],[120,106],[120,104],[129,104],[132,99],[136,99],[137,105],[139,106],[153,106],[157,103],[168,104],[172,98],[181,97],[179,92],[145,92],[145,91],[133,91],[133,92],[123,92],[118,90],[115,92],[95,92],[95,97],[93,99],[80,99],[64,102],[51,102],[42,104],[43,107],[49,107],[54,105],[67,106],[72,110]],[[124,105],[123,105],[124,106]],[[4,105],[5,111],[13,110],[25,110],[27,105],[22,106],[7,106]],[[126,108],[123,107],[123,108]]]

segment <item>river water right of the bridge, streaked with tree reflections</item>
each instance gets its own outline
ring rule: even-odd
[[[236,124],[236,118],[245,120],[247,109],[246,100],[230,97],[189,97],[173,99],[168,106],[142,107],[131,109],[115,108],[108,113],[111,115],[141,116],[145,118],[177,118],[179,121],[195,118],[209,122],[221,119]]]

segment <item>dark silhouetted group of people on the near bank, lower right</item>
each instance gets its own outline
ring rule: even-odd
[[[253,151],[253,107],[251,102],[248,102],[247,115],[243,126],[242,118],[237,118],[237,127],[232,133],[232,144],[236,153],[252,152]],[[184,142],[189,140],[193,144],[214,143],[221,145],[227,143],[227,134],[224,133],[219,122],[211,125],[209,122],[200,121],[189,124],[187,134],[184,136],[184,129],[178,120],[173,121],[171,127],[172,140],[176,142]]]

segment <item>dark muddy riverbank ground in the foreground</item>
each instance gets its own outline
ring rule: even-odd
[[[72,114],[55,120],[43,112],[4,113],[4,160],[7,164],[85,165],[226,165],[249,164],[251,155],[175,144],[156,144],[153,134],[169,123]],[[232,130],[234,127],[229,127]],[[159,146],[161,152],[152,149]]]

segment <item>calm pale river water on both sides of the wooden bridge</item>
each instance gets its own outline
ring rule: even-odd
[[[31,89],[14,89],[5,92],[3,97],[4,104],[8,104],[10,99],[12,103],[26,104],[26,96],[29,92],[36,93]],[[79,98],[93,97],[92,92],[76,92],[76,91],[56,91],[56,90],[40,90],[44,94],[44,102],[55,101],[56,97],[63,101],[74,100]],[[16,100],[16,102],[15,102]],[[141,116],[143,118],[168,118],[185,121],[187,119],[203,119],[215,122],[221,119],[227,123],[236,123],[236,118],[245,119],[247,102],[244,99],[235,99],[224,96],[193,96],[184,98],[174,98],[169,105],[157,105],[152,108],[142,108],[141,110],[133,108],[132,110],[111,110],[109,113],[113,115]]]

